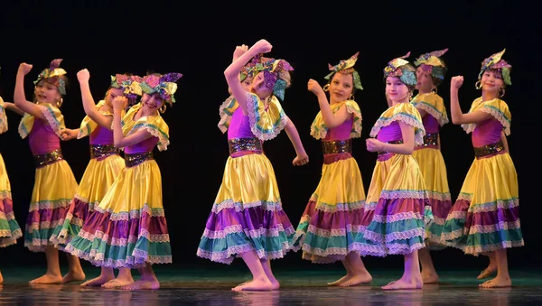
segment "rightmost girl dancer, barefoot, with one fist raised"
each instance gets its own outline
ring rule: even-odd
[[[450,87],[454,125],[472,133],[474,162],[467,173],[458,198],[446,218],[442,239],[470,255],[489,255],[490,265],[479,279],[497,276],[481,287],[509,287],[507,248],[523,246],[519,222],[518,174],[509,155],[506,135],[510,134],[509,107],[500,97],[511,85],[512,66],[502,60],[504,50],[483,60],[476,88],[481,97],[463,114],[458,91],[463,76],[453,77]]]

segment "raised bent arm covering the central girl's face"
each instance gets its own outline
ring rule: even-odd
[[[239,72],[245,67],[248,63],[248,60],[251,60],[258,53],[266,53],[271,51],[273,46],[266,40],[260,40],[256,42],[248,51],[244,52],[237,60],[234,60],[229,64],[228,68],[224,70],[224,76],[228,82],[228,87],[231,89],[233,97],[238,101],[239,106],[243,110],[243,114],[247,115],[247,91],[241,86],[239,82],[238,75]]]

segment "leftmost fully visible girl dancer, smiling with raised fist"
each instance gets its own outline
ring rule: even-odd
[[[66,94],[67,79],[60,64],[60,59],[52,60],[50,67],[42,70],[34,81],[35,103],[27,101],[24,95],[24,76],[32,70],[32,65],[22,63],[15,82],[16,112],[24,114],[19,134],[22,138],[28,136],[36,165],[24,246],[33,252],[45,252],[47,258],[47,272],[31,283],[69,283],[85,278],[79,258],[73,255],[68,255],[69,272],[62,278],[58,250],[50,241],[78,189],[70,165],[62,158],[60,137],[65,126],[59,107]]]

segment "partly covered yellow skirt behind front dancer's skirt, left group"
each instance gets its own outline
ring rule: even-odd
[[[79,181],[75,197],[70,202],[70,208],[52,233],[51,242],[55,246],[63,249],[72,237],[79,235],[83,223],[104,198],[124,167],[124,159],[118,154],[111,154],[103,160],[90,160]]]

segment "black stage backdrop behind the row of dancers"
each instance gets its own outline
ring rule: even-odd
[[[463,75],[460,101],[466,112],[472,100],[480,95],[474,83],[481,61],[507,48],[504,58],[513,65],[513,86],[507,88],[504,100],[512,113],[509,147],[519,174],[520,213],[526,241],[526,246],[509,251],[509,265],[511,269],[534,267],[539,266],[535,251],[540,243],[537,220],[542,209],[534,202],[535,189],[529,186],[537,181],[527,179],[528,169],[536,168],[521,159],[521,147],[530,144],[520,142],[520,127],[523,125],[527,133],[528,127],[522,123],[528,122],[524,106],[532,96],[528,96],[525,84],[535,55],[521,52],[520,46],[534,46],[538,41],[535,22],[539,17],[529,19],[527,11],[519,2],[504,1],[290,2],[282,8],[279,3],[241,5],[229,1],[216,4],[210,1],[3,2],[0,95],[5,101],[13,101],[20,62],[33,64],[25,81],[26,95],[32,97],[32,81],[38,73],[52,59],[64,59],[61,67],[68,71],[70,84],[61,110],[66,125],[76,128],[85,116],[76,77],[79,70],[89,69],[96,101],[104,97],[109,75],[126,71],[145,75],[147,70],[181,72],[184,77],[178,82],[177,103],[164,114],[170,126],[171,145],[165,152],[156,152],[155,159],[163,176],[164,208],[174,264],[212,265],[195,254],[228,158],[226,135],[220,133],[217,123],[220,103],[228,97],[222,72],[229,65],[236,45],[252,45],[265,38],[273,44],[269,56],[284,58],[294,67],[293,84],[286,90],[283,107],[301,134],[310,163],[304,167],[291,165],[295,154],[285,133],[266,143],[284,209],[294,226],[320,180],[322,167],[320,142],[309,135],[319,107],[306,84],[312,78],[323,86],[323,77],[329,72],[328,62],[334,65],[360,51],[356,69],[365,90],[357,93],[356,100],[363,115],[363,131],[361,138],[353,142],[353,155],[360,164],[367,191],[377,154],[367,152],[365,139],[387,108],[382,70],[388,60],[411,51],[409,60],[413,61],[427,51],[449,48],[444,55],[449,73],[438,88],[439,94],[444,97],[449,112],[450,79]],[[525,26],[524,22],[532,24]],[[7,116],[9,130],[0,136],[0,150],[12,185],[15,216],[24,227],[33,190],[33,157],[28,141],[17,133],[20,117],[11,112]],[[525,118],[523,121],[521,116]],[[441,139],[455,199],[473,161],[471,138],[460,126],[450,123],[444,125]],[[88,138],[62,143],[62,150],[79,180],[89,162]],[[24,248],[23,239],[17,246],[0,251],[2,266],[45,267],[44,257]],[[454,249],[434,253],[434,259],[437,269],[481,269],[486,264],[485,258],[463,255]],[[403,261],[401,256],[364,260],[369,271],[377,267],[400,269]],[[300,253],[290,253],[274,263],[311,266],[301,260]]]

